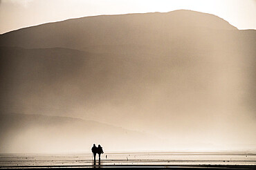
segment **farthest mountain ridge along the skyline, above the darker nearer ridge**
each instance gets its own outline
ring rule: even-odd
[[[185,40],[188,36],[201,38],[201,30],[208,28],[237,30],[214,15],[176,10],[166,13],[103,15],[46,23],[3,34],[0,46],[78,50],[124,44],[161,46],[178,39]],[[188,31],[191,29],[194,32]]]

